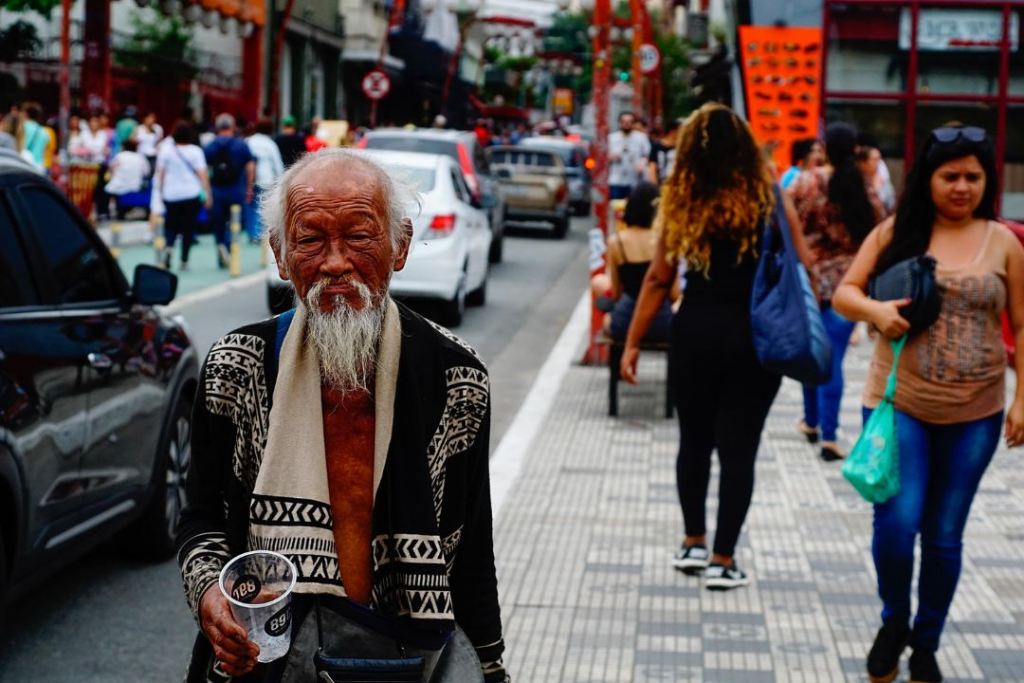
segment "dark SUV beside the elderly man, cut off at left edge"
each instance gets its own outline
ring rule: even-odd
[[[177,279],[129,287],[49,180],[0,151],[0,608],[122,531],[170,556],[199,368]]]

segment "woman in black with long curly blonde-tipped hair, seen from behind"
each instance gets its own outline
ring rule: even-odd
[[[676,482],[685,539],[673,565],[705,575],[711,590],[750,583],[733,554],[754,493],[761,430],[780,377],[754,351],[750,306],[772,178],[750,127],[731,110],[706,104],[680,135],[676,165],[662,189],[662,232],[630,326],[623,379],[636,383],[639,342],[685,263],[683,303],[672,324],[670,381],[680,442]],[[802,229],[786,200],[794,243],[807,260]],[[718,527],[708,552],[705,505],[711,455],[721,465]]]

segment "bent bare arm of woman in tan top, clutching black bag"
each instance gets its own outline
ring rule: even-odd
[[[892,219],[884,221],[871,230],[857,251],[853,264],[846,271],[833,296],[833,306],[843,317],[850,321],[871,323],[890,339],[903,336],[910,324],[900,315],[899,309],[910,303],[908,299],[897,301],[874,301],[867,292],[867,282],[879,263],[879,256],[892,234]]]

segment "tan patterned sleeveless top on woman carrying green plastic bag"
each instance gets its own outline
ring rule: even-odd
[[[974,261],[958,268],[939,263],[942,312],[903,348],[897,409],[933,424],[980,420],[1004,410],[1007,355],[999,316],[1007,306],[1007,258],[1014,240],[1008,227],[989,221]],[[868,408],[882,402],[892,359],[889,341],[880,337],[864,386]]]

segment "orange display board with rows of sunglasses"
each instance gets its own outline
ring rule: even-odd
[[[790,168],[795,140],[818,137],[821,29],[739,27],[746,111],[754,137]]]

